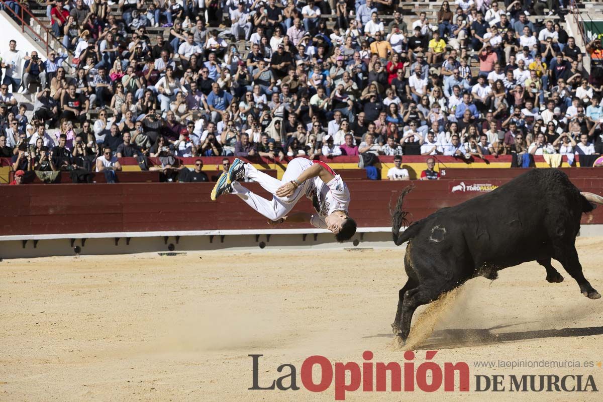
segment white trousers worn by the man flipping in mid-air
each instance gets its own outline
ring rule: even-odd
[[[250,190],[243,187],[238,181],[232,183],[233,194],[236,194],[251,208],[264,215],[266,218],[273,221],[277,221],[283,216],[287,215],[289,211],[293,209],[293,206],[297,204],[302,196],[305,195],[306,189],[311,185],[311,180],[306,180],[298,187],[295,192],[288,197],[281,198],[276,196],[276,190],[279,189],[285,183],[291,180],[295,180],[299,177],[301,172],[308,169],[311,164],[308,163],[308,159],[296,158],[291,160],[287,165],[287,169],[283,174],[283,180],[271,177],[264,172],[258,171],[256,168],[251,166],[251,163],[245,163],[245,177],[259,183],[260,186],[273,195],[271,200],[265,199],[257,194],[254,194]]]

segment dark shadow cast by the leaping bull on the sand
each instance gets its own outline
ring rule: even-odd
[[[529,324],[523,322],[522,324]],[[516,332],[496,332],[514,325],[498,325],[492,328],[464,328],[437,330],[425,342],[415,349],[455,349],[464,347],[486,346],[502,342],[523,341],[524,339],[560,338],[564,336],[593,336],[603,334],[603,327],[561,328],[559,330],[534,330]],[[411,331],[412,336],[412,331]],[[364,338],[394,338],[394,334],[376,334]]]

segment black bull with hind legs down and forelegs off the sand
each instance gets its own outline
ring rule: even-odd
[[[496,190],[432,213],[407,225],[400,194],[392,215],[396,245],[408,240],[404,266],[408,281],[399,292],[394,333],[406,341],[418,306],[431,303],[470,278],[496,279],[497,271],[528,261],[546,268],[546,280],[563,276],[555,259],[578,282],[586,297],[599,293],[582,274],[575,247],[582,213],[603,203],[601,196],[581,193],[557,169],[532,169]]]

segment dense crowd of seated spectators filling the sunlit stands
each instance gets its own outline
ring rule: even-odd
[[[444,0],[410,18],[402,4],[121,0],[115,13],[47,0],[72,55],[10,41],[0,157],[15,171],[103,171],[119,157],[177,169],[177,157],[515,154],[522,166],[602,151],[601,40],[576,45],[566,1]],[[32,87],[28,119],[13,93]]]

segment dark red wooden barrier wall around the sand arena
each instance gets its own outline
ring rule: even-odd
[[[603,194],[603,178],[592,177],[591,169],[573,171],[572,181],[576,186],[585,191]],[[582,177],[578,177],[579,175]],[[497,186],[508,180],[510,179],[494,177],[413,181],[416,188],[408,195],[405,209],[412,213],[412,219],[421,219],[441,207],[454,206],[481,194],[472,190],[452,193],[453,187],[458,186],[460,181],[463,181],[467,189],[479,184]],[[394,203],[397,193],[408,184],[408,181],[349,181],[352,193],[350,215],[358,221],[360,227],[390,225],[390,203]],[[256,183],[245,185],[254,192],[268,196]],[[217,202],[210,201],[212,187],[212,183],[2,186],[0,233],[10,235],[268,227],[265,218],[236,196],[227,195]],[[295,210],[311,212],[312,206],[304,198]],[[603,224],[603,208],[596,210],[592,216],[584,216],[582,222]]]

